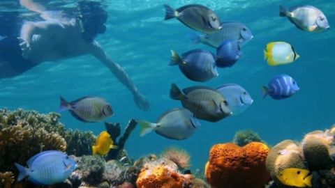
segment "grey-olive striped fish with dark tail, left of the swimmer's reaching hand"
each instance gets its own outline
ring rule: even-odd
[[[98,122],[113,115],[110,104],[101,97],[81,97],[73,102],[61,98],[59,112],[70,111],[71,115],[82,122]]]

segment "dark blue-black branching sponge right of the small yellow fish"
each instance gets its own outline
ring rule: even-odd
[[[134,119],[129,120],[128,125],[126,125],[126,128],[124,130],[124,134],[119,139],[117,139],[121,134],[120,124],[105,123],[108,134],[110,134],[110,137],[114,141],[114,145],[117,146],[117,149],[110,150],[106,157],[106,160],[118,159],[118,157],[120,157],[120,152],[123,152],[126,141],[131,135],[131,132],[133,132],[133,130],[135,129],[136,125],[137,122]]]

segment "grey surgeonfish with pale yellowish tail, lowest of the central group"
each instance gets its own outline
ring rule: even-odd
[[[200,126],[198,119],[191,111],[180,108],[165,111],[156,123],[144,120],[137,120],[137,123],[141,126],[141,136],[154,130],[165,138],[175,140],[187,139]]]

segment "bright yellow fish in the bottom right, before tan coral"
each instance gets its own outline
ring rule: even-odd
[[[312,187],[312,175],[306,169],[289,168],[281,171],[277,175],[283,185],[294,187]]]

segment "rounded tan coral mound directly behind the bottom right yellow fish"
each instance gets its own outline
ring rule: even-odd
[[[291,140],[281,141],[281,143],[278,143],[271,148],[269,155],[267,155],[266,165],[271,178],[276,182],[278,187],[289,187],[283,185],[278,178],[276,178],[276,175],[284,169],[306,169],[304,166],[301,146]]]

